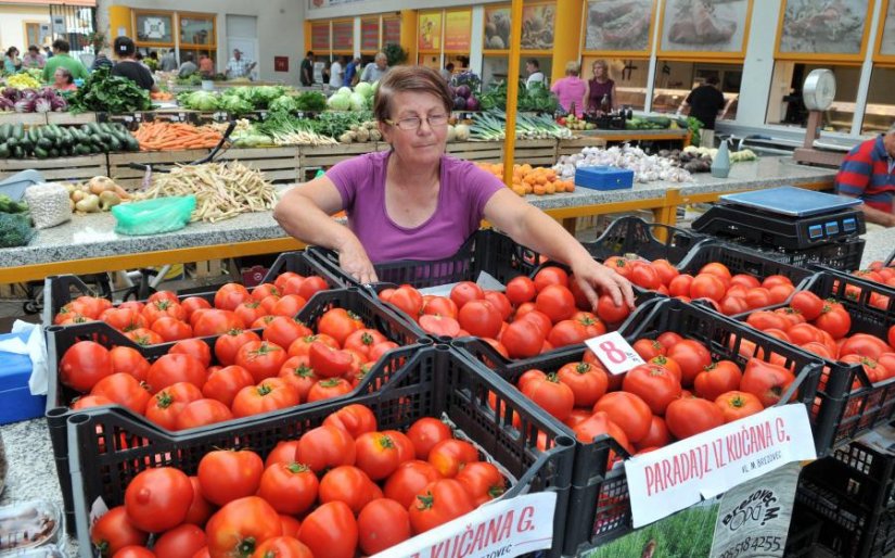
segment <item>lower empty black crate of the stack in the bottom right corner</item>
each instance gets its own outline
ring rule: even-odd
[[[804,474],[795,499],[796,509],[808,509],[820,518],[818,543],[834,556],[882,558],[895,549],[895,510],[868,512]]]

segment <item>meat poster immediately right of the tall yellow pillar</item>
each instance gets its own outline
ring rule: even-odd
[[[585,50],[645,51],[653,0],[597,0],[587,4]]]

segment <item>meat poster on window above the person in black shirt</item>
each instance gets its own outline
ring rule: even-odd
[[[668,0],[662,50],[742,52],[750,0]]]

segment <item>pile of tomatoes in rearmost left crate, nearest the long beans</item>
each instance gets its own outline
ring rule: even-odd
[[[171,291],[158,291],[145,302],[128,301],[117,306],[106,299],[78,296],[60,309],[53,324],[104,321],[135,343],[154,345],[257,328],[261,318],[268,316],[292,318],[316,292],[329,288],[322,277],[286,271],[274,282],[259,284],[251,292],[242,284],[227,283],[215,292],[214,306],[202,296],[181,301]]]

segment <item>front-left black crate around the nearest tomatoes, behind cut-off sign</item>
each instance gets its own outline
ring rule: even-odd
[[[265,456],[279,441],[294,440],[348,403],[369,406],[381,430],[406,430],[421,417],[446,417],[514,478],[504,497],[555,492],[557,544],[548,556],[560,556],[571,485],[572,440],[536,405],[520,398],[494,375],[480,375],[446,345],[418,351],[376,393],[251,418],[213,431],[168,433],[135,421],[122,409],[72,417],[67,434],[80,548],[90,547],[88,513],[95,499],[102,498],[110,508],[122,504],[128,482],[141,470],[174,466],[195,474],[202,456],[221,447],[246,447]],[[519,429],[512,427],[514,420]],[[547,449],[538,449],[539,444]]]

